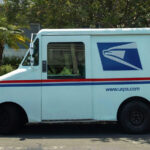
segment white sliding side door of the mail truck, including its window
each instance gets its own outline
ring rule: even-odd
[[[89,36],[42,37],[42,120],[92,119]]]

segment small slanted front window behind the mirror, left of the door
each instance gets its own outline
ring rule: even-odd
[[[30,53],[28,53],[28,55],[26,56],[24,62],[23,62],[23,66],[30,66]],[[34,42],[34,53],[33,53],[33,58],[34,58],[34,66],[38,66],[39,65],[39,39],[37,39]]]

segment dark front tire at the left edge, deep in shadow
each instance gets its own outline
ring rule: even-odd
[[[21,127],[19,111],[11,105],[0,107],[0,133],[16,133]]]

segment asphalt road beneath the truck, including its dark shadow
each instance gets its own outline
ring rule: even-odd
[[[36,124],[1,135],[0,150],[150,150],[150,133],[126,134],[113,124]]]

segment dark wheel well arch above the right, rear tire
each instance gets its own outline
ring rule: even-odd
[[[142,101],[143,103],[147,104],[150,107],[150,102],[147,99],[145,99],[143,97],[139,97],[139,96],[130,97],[130,98],[126,99],[125,101],[123,101],[121,103],[121,105],[119,106],[119,109],[117,112],[117,120],[119,119],[119,114],[120,114],[123,106],[126,105],[127,103],[131,102],[131,101],[136,101],[136,102]]]

